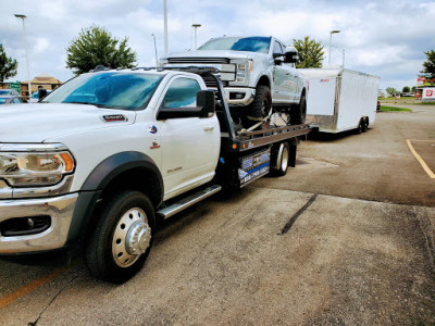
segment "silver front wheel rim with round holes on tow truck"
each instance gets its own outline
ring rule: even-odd
[[[151,227],[145,212],[130,209],[120,218],[112,239],[113,260],[120,267],[128,267],[144,254],[151,242]]]

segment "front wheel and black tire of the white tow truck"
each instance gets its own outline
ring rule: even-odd
[[[121,284],[140,271],[152,244],[156,213],[151,201],[139,191],[113,196],[102,209],[86,247],[90,273]]]

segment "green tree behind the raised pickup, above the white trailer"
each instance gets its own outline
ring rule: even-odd
[[[303,39],[294,39],[293,46],[298,50],[299,54],[299,62],[296,67],[322,67],[323,55],[325,54],[322,42],[316,42],[306,36]]]

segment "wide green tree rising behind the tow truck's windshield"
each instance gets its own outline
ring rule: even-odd
[[[66,49],[66,67],[78,75],[102,64],[105,67],[134,67],[137,55],[127,46],[128,38],[113,38],[104,27],[83,28]]]

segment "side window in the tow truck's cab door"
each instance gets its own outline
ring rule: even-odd
[[[175,79],[163,99],[163,108],[195,108],[197,106],[197,92],[201,90],[198,82],[191,78]]]

